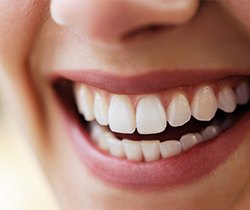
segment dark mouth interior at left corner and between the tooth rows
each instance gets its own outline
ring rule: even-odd
[[[66,79],[58,79],[53,83],[53,88],[56,92],[56,96],[58,97],[60,104],[64,107],[64,109],[75,117],[75,119],[80,123],[85,129],[89,130],[89,122],[85,121],[84,117],[80,115],[77,111],[77,106],[73,94],[73,82]],[[230,118],[233,122],[236,122],[241,116],[248,112],[250,108],[250,102],[246,105],[238,105],[237,109],[233,113],[225,113],[221,110],[216,112],[215,117],[212,121],[198,121],[195,118],[191,118],[191,120],[183,126],[180,127],[172,127],[170,125],[167,126],[165,131],[158,134],[150,134],[150,135],[141,135],[137,131],[133,134],[121,134],[114,133],[118,139],[130,139],[130,140],[153,140],[157,139],[160,141],[166,141],[171,139],[180,139],[180,137],[187,133],[196,133],[200,132],[206,126],[210,125],[211,122],[216,122],[216,124],[220,125],[224,122],[225,119]]]

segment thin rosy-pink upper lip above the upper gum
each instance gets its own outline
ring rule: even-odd
[[[208,83],[232,76],[249,76],[249,70],[154,70],[137,75],[119,75],[101,70],[64,70],[56,71],[49,77],[52,82],[63,78],[115,94],[146,94],[168,88]]]

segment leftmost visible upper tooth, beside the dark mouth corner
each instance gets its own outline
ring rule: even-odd
[[[77,84],[75,86],[75,95],[78,110],[84,115],[85,120],[94,120],[93,95],[89,89],[82,84]]]

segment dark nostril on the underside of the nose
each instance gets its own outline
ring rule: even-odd
[[[176,25],[163,25],[163,24],[150,24],[147,26],[137,27],[134,30],[130,30],[121,36],[121,41],[131,41],[138,37],[148,37],[159,34],[162,31],[175,28]]]

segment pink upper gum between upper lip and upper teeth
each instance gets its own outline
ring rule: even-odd
[[[181,86],[181,87],[170,88],[170,89],[166,89],[166,90],[163,90],[161,92],[158,92],[158,93],[136,94],[136,95],[120,94],[120,95],[126,95],[130,99],[134,108],[136,108],[138,101],[142,97],[145,97],[148,95],[157,95],[160,98],[163,106],[167,107],[169,105],[171,99],[173,98],[173,96],[177,93],[184,94],[187,97],[189,103],[191,104],[191,101],[196,93],[196,90],[199,89],[200,87],[204,87],[204,86],[212,87],[215,95],[217,96],[219,91],[222,88],[229,86],[232,89],[235,89],[241,82],[244,82],[244,81],[248,81],[248,79],[246,77],[234,77],[234,78],[223,79],[223,80],[216,81],[216,82],[203,83],[203,84],[191,85],[191,86],[186,85],[186,86]],[[119,94],[109,93],[105,90],[101,90],[101,89],[91,87],[91,86],[88,86],[85,84],[82,84],[82,85],[86,86],[93,95],[96,92],[98,92],[101,96],[106,98],[108,103],[110,102],[110,99],[113,95],[119,95]]]

